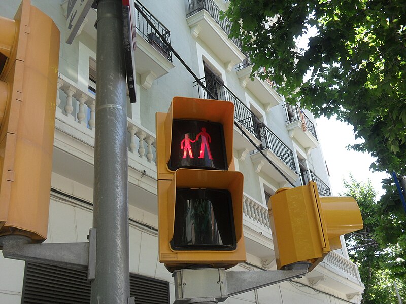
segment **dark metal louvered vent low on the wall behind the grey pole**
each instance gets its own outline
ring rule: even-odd
[[[90,304],[87,272],[25,263],[21,304]],[[136,304],[169,304],[169,283],[130,274],[130,297]]]

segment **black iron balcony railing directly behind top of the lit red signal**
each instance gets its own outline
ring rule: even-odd
[[[255,114],[232,93],[218,78],[213,75],[208,75],[207,77],[201,78],[200,81],[209,90],[207,92],[205,89],[195,81],[194,86],[197,86],[199,98],[204,99],[217,99],[217,100],[228,100],[234,104],[234,119],[244,126],[252,135],[260,139],[258,133],[257,121],[258,118]]]

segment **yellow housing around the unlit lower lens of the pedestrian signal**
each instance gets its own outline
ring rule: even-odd
[[[170,243],[175,232],[177,188],[226,189],[232,197],[236,249],[177,250]],[[178,169],[172,181],[158,181],[159,261],[174,271],[190,265],[230,268],[246,260],[243,236],[243,174],[235,171]]]

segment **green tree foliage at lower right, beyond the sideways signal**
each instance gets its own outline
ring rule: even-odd
[[[362,282],[365,284],[363,303],[392,304],[397,303],[393,281],[398,286],[402,300],[406,300],[405,282],[405,244],[400,217],[390,217],[385,212],[387,205],[375,202],[376,192],[371,183],[357,182],[352,176],[344,181],[344,195],[356,199],[364,221],[362,230],[346,235],[350,259],[358,265]],[[390,191],[387,191],[389,194]],[[403,216],[403,220],[404,220]]]

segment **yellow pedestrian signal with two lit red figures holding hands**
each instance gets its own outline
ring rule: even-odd
[[[159,261],[171,272],[246,260],[233,115],[229,101],[185,97],[156,113]]]

